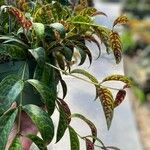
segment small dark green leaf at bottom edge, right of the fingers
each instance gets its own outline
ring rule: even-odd
[[[40,149],[40,150],[47,150],[47,147],[44,144],[44,141],[39,138],[38,136],[34,135],[34,134],[29,134],[27,135],[27,137],[35,143],[35,145]]]

